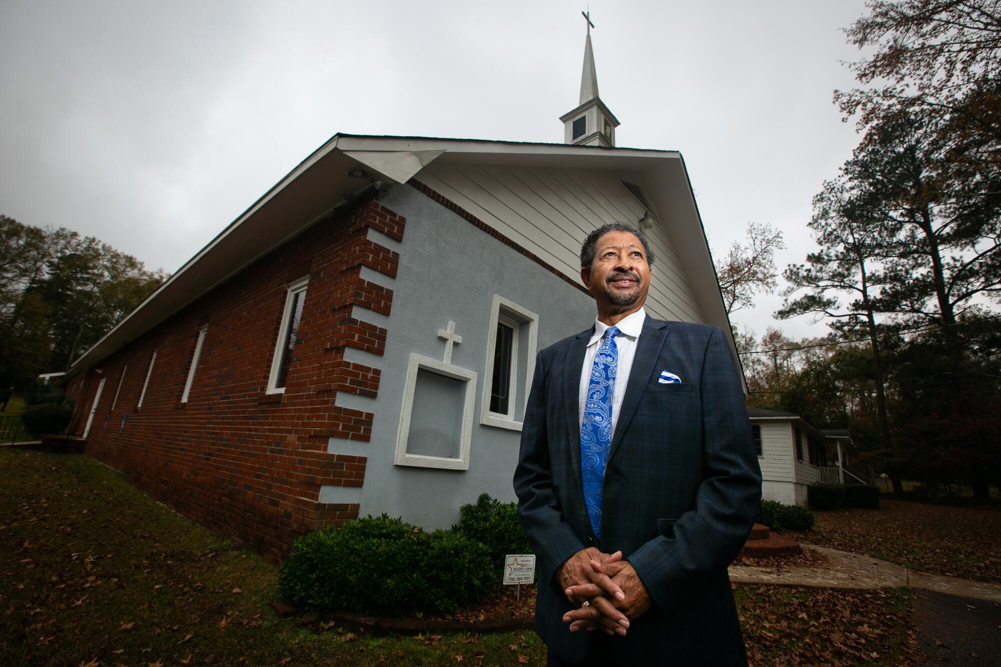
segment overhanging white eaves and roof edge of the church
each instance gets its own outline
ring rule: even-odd
[[[68,369],[98,364],[334,209],[371,188],[405,183],[431,162],[623,169],[651,183],[648,196],[671,237],[708,323],[737,358],[702,218],[681,153],[562,143],[335,134],[286,174]],[[351,175],[351,173],[355,175]],[[698,229],[699,233],[692,233]],[[739,360],[739,358],[737,358]]]

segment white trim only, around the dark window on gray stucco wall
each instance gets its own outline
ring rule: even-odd
[[[514,312],[517,316],[521,316],[522,321],[512,317],[507,312],[502,312],[502,306],[504,306],[505,310]],[[498,413],[490,412],[490,390],[492,389],[491,385],[493,382],[493,348],[496,346],[497,321],[508,324],[509,326],[515,324],[511,365],[512,397],[511,402],[508,404],[511,414],[509,415],[500,415]],[[529,349],[526,351],[528,365],[525,370],[525,378],[522,379],[522,382],[519,382],[519,363],[517,354],[518,339],[521,327],[525,325],[529,326]],[[490,327],[486,339],[486,369],[483,376],[482,404],[479,410],[480,424],[500,429],[511,429],[512,431],[522,430],[522,422],[515,420],[513,416],[516,414],[515,406],[521,403],[524,408],[529,403],[529,391],[532,389],[532,378],[536,374],[536,350],[538,346],[539,315],[532,310],[519,305],[510,298],[505,298],[500,294],[493,294],[493,300],[490,304]]]

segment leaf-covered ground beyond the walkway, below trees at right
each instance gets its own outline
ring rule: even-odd
[[[784,535],[913,570],[1001,582],[1001,509],[880,499],[879,510],[816,512],[812,531]]]

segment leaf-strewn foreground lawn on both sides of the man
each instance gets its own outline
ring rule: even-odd
[[[0,665],[542,665],[532,632],[315,631],[277,576],[82,456],[0,450]],[[906,591],[735,591],[756,665],[910,664]]]

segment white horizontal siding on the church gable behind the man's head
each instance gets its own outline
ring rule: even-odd
[[[620,177],[639,180],[607,170],[437,162],[416,176],[574,279],[581,272],[581,243],[591,230],[614,220],[636,224],[643,216]],[[647,233],[657,255],[647,310],[663,319],[705,321],[671,239],[660,225]]]

